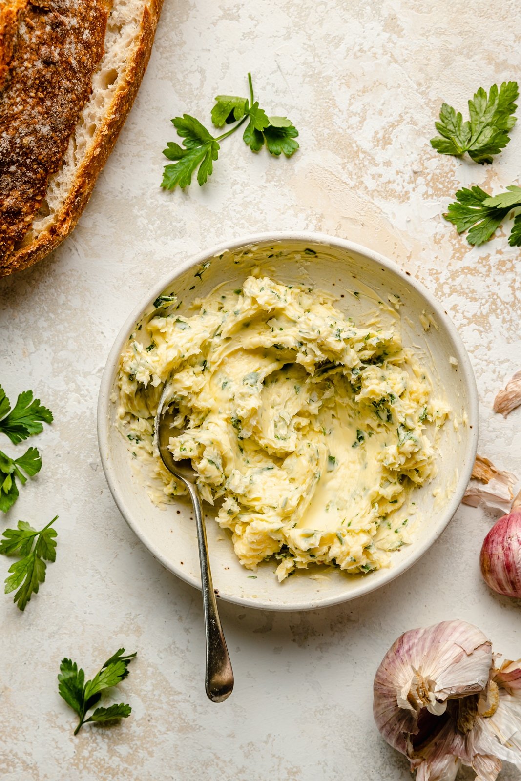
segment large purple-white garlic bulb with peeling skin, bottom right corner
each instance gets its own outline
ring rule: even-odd
[[[494,781],[501,760],[521,768],[521,661],[495,669],[490,641],[466,622],[398,637],[376,672],[373,712],[416,781],[453,781],[461,765]]]

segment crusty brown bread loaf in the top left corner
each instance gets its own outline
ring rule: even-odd
[[[0,276],[76,225],[141,84],[161,5],[0,2]]]

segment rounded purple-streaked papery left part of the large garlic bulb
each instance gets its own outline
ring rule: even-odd
[[[444,621],[405,632],[376,672],[376,726],[387,743],[412,758],[420,713],[439,716],[449,699],[479,694],[491,665],[491,643],[472,624]]]

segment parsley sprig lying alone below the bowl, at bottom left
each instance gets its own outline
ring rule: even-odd
[[[88,719],[87,711],[94,708],[102,696],[102,691],[117,686],[128,675],[128,665],[136,654],[125,654],[124,648],[118,648],[102,666],[92,680],[85,683],[85,673],[78,669],[77,663],[70,659],[62,659],[59,665],[58,691],[73,711],[80,717],[74,734],[79,733],[81,727],[87,722],[108,722],[113,719],[127,719],[132,708],[130,705],[113,704],[109,708],[96,708]]]

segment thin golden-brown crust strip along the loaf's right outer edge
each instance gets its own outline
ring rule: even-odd
[[[95,144],[92,144],[78,167],[62,208],[56,214],[52,224],[30,244],[12,252],[8,258],[0,260],[0,277],[27,269],[45,258],[76,226],[137,95],[152,52],[162,2],[163,0],[151,0],[148,5],[145,5],[140,34],[134,54],[127,66],[123,87],[112,99],[107,115],[98,130]]]

